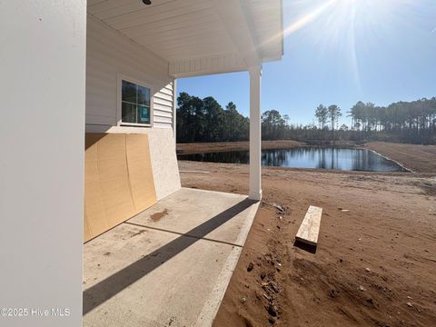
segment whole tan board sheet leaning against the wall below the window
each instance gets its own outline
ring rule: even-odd
[[[156,203],[146,134],[86,134],[84,241]]]

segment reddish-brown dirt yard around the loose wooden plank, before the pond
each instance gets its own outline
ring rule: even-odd
[[[248,192],[248,165],[179,165],[209,172],[181,173],[183,186]],[[323,209],[316,252],[294,244],[311,204]],[[214,326],[436,326],[435,271],[434,174],[263,167]]]

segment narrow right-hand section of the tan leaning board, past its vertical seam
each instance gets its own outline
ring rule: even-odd
[[[126,154],[129,180],[137,213],[157,202],[147,134],[127,134]]]

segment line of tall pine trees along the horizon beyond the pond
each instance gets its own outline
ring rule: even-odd
[[[201,99],[181,93],[177,104],[177,142],[232,142],[249,138],[249,118],[240,114],[232,102],[223,108],[212,96]],[[336,104],[320,104],[315,108],[318,124],[291,124],[289,115],[265,111],[262,138],[313,144],[337,140],[436,144],[436,97],[388,106],[359,101],[346,114],[352,119],[350,127],[339,126],[342,109]]]

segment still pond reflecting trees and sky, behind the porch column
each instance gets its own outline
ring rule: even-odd
[[[249,163],[248,151],[179,154],[179,160],[210,163]],[[277,167],[335,169],[343,171],[404,172],[397,163],[367,149],[298,147],[263,150],[262,164]]]

